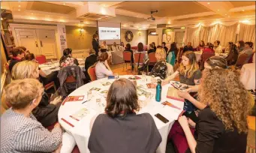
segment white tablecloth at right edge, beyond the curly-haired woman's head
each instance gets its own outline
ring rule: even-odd
[[[255,89],[255,63],[242,65],[240,80],[245,89]]]

